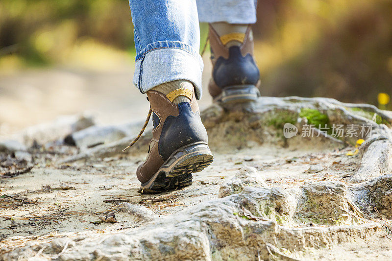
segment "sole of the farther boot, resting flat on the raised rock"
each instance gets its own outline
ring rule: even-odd
[[[221,104],[256,101],[260,97],[260,91],[254,85],[233,85],[222,89],[214,101]]]

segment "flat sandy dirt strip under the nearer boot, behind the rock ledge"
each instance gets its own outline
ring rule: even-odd
[[[243,166],[259,169],[258,173],[271,186],[290,187],[309,179],[325,180],[331,176],[328,168],[309,174],[306,173],[309,164],[325,164],[341,154],[344,152],[290,151],[270,146],[225,154],[216,152],[214,163],[194,175],[191,187],[162,195],[142,194],[140,204],[158,215],[174,214],[184,207],[217,198],[221,183]],[[85,230],[115,231],[130,226],[132,221],[127,221],[129,216],[123,212],[116,214],[120,221],[116,224],[95,225],[90,222],[99,221],[100,214],[116,209],[116,203],[132,202],[132,198],[138,200],[139,182],[135,173],[145,155],[104,158],[103,161],[71,165],[36,166],[30,173],[5,180],[1,190],[5,192],[4,199],[8,204],[3,203],[0,211],[2,237],[44,236]],[[294,157],[295,162],[286,161]],[[335,179],[339,180],[339,176]],[[71,189],[61,189],[60,183]],[[113,202],[106,203],[105,200]]]

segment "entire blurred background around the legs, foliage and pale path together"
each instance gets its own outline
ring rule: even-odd
[[[257,13],[262,95],[392,109],[391,0],[259,0]],[[60,115],[143,120],[132,29],[127,0],[1,0],[0,138]],[[203,60],[205,88],[208,51]],[[210,103],[205,89],[200,107]]]

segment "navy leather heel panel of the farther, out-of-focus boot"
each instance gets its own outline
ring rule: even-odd
[[[229,58],[219,57],[213,71],[215,83],[221,87],[232,85],[256,85],[260,78],[260,71],[248,53],[241,54],[240,47],[232,46],[229,48]]]

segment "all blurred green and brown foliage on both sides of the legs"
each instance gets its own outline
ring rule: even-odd
[[[263,95],[375,105],[391,95],[391,0],[259,0],[257,13]],[[201,48],[206,31],[201,24]],[[134,52],[127,0],[0,1],[0,70]]]

